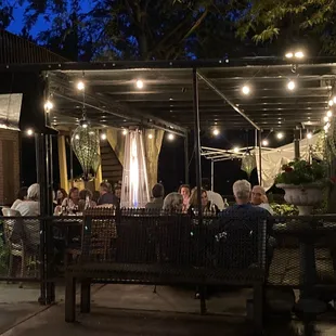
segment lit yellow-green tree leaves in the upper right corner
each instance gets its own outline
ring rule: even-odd
[[[336,54],[335,0],[254,0],[242,12],[237,35],[256,43],[281,39],[309,44],[313,54]]]

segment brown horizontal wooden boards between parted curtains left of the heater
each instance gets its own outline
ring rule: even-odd
[[[121,181],[122,166],[107,141],[101,144],[101,158],[103,180],[111,184]]]

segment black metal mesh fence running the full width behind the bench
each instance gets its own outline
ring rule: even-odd
[[[242,234],[242,225],[248,228],[250,221],[232,216],[208,217],[203,225],[186,215],[143,210],[122,210],[105,219],[0,217],[0,281],[39,282],[41,302],[51,302],[67,264],[93,258],[217,270],[266,262],[269,286],[336,287],[336,216],[274,217],[266,256],[260,253],[262,241],[256,229],[250,230],[254,234]],[[81,246],[88,237],[92,244]]]

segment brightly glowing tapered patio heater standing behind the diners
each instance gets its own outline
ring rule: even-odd
[[[150,191],[143,134],[139,130],[133,130],[128,132],[125,141],[120,206],[143,208],[148,202]]]

